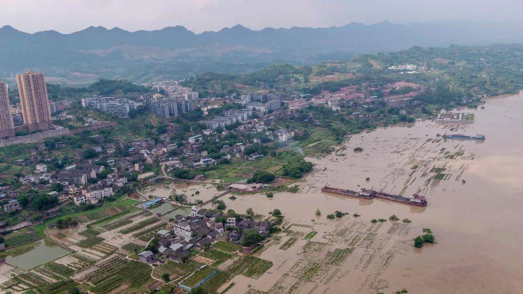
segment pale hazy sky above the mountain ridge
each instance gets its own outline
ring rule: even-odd
[[[0,0],[0,26],[63,33],[88,26],[196,32],[240,23],[251,29],[342,26],[356,21],[523,22],[523,0]]]

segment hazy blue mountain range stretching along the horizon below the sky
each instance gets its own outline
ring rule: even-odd
[[[213,62],[310,63],[339,54],[389,52],[418,46],[523,42],[523,27],[502,23],[448,22],[251,30],[241,25],[195,34],[183,26],[135,32],[88,27],[70,34],[0,28],[0,72],[37,67],[108,66],[121,62],[166,62],[212,58]],[[153,50],[161,49],[161,50]],[[144,54],[150,52],[151,54]],[[204,68],[202,68],[204,70]],[[1,78],[1,76],[0,76]]]

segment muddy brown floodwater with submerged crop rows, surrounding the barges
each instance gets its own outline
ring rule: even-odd
[[[523,94],[460,111],[473,113],[474,122],[419,121],[353,136],[335,154],[308,159],[314,171],[299,193],[223,198],[235,211],[252,207],[268,216],[278,208],[287,228],[260,254],[274,263],[269,271],[258,279],[236,276],[228,293],[521,291]],[[437,136],[461,133],[480,133],[486,140]],[[363,151],[354,152],[357,147]],[[326,183],[406,197],[419,193],[428,206],[322,193]],[[335,210],[348,214],[328,220]],[[393,214],[400,220],[388,220]],[[386,221],[370,221],[380,218]],[[424,228],[433,231],[437,243],[415,249],[412,239]],[[317,233],[305,239],[311,231]]]

